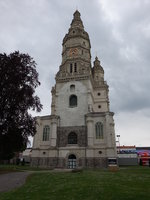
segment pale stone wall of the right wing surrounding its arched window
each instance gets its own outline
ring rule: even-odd
[[[89,151],[87,151],[88,152],[87,156],[116,157],[115,131],[114,131],[114,121],[112,114],[109,112],[96,113],[96,114],[91,113],[87,115],[86,121],[87,121],[87,127],[89,127],[88,124],[90,123],[91,124],[90,127],[92,128],[92,130],[90,131],[92,133],[91,136],[87,135],[88,146],[90,148],[93,147],[93,150],[89,149]],[[95,124],[97,122],[102,122],[103,124],[103,139],[96,139]],[[107,151],[105,150],[106,147],[108,148]],[[101,155],[98,155],[99,153]]]

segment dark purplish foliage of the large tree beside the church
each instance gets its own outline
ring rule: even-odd
[[[36,132],[29,110],[41,111],[35,89],[40,85],[36,63],[18,51],[0,54],[0,159],[24,149]]]

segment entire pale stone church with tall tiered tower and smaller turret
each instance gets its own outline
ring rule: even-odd
[[[62,43],[62,63],[52,87],[51,115],[37,117],[32,165],[50,168],[107,167],[116,158],[108,85],[79,11]]]

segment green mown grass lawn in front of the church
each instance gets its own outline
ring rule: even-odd
[[[0,193],[0,200],[149,200],[150,168],[126,167],[118,172],[35,172],[26,184]]]

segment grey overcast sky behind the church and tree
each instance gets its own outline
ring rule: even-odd
[[[62,40],[76,9],[90,36],[92,63],[97,54],[105,70],[121,145],[150,146],[150,0],[0,0],[0,52],[34,58],[43,104],[38,115],[49,115]]]

